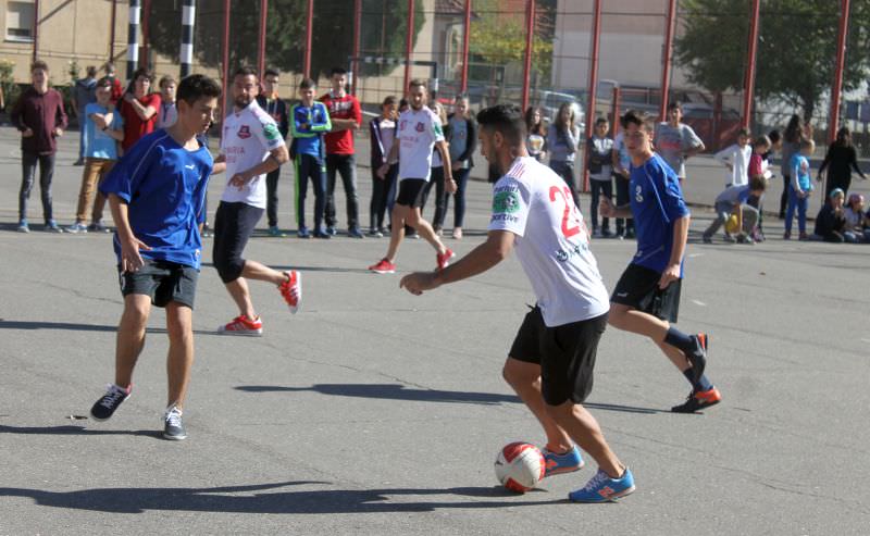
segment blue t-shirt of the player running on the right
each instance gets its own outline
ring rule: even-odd
[[[629,185],[637,236],[632,263],[663,272],[673,249],[673,224],[687,216],[688,207],[676,173],[658,154],[639,167],[632,165]],[[682,263],[680,276],[683,276]]]

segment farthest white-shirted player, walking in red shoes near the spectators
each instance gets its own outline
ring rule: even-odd
[[[442,122],[435,112],[426,107],[426,85],[422,80],[413,79],[408,84],[411,108],[399,115],[399,127],[396,135],[398,142],[393,144],[386,162],[399,159],[399,195],[393,207],[393,229],[389,234],[387,254],[369,270],[378,274],[396,272],[396,253],[399,244],[405,238],[405,224],[407,223],[427,242],[435,248],[436,266],[444,269],[455,257],[455,253],[445,247],[438,235],[428,222],[423,220],[425,187],[432,173],[432,150],[436,148],[444,162],[445,190],[449,194],[456,191],[456,183],[450,171],[450,152],[444,139]],[[389,165],[384,164],[377,170],[381,177],[386,176]]]

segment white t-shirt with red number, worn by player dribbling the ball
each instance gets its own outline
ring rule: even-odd
[[[517,235],[517,257],[548,327],[610,309],[589,232],[564,180],[531,157],[518,158],[493,188],[489,230]]]

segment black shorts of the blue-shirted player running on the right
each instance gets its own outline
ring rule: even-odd
[[[629,264],[619,278],[610,301],[675,323],[680,313],[683,279],[671,282],[663,290],[659,288],[659,279],[661,273],[639,264]]]

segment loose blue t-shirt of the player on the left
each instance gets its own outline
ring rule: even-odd
[[[133,235],[151,248],[140,251],[144,258],[199,270],[199,224],[213,164],[204,146],[188,151],[161,128],[137,141],[105,177],[100,191],[127,202]],[[116,233],[114,247],[120,263]]]

